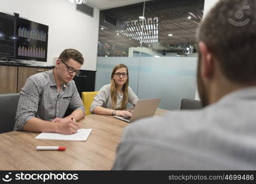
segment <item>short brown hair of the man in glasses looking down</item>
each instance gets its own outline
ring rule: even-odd
[[[58,59],[62,59],[62,61],[64,62],[67,62],[68,59],[74,59],[74,61],[77,61],[80,64],[84,63],[84,58],[82,57],[82,54],[78,50],[75,50],[73,48],[63,50]]]

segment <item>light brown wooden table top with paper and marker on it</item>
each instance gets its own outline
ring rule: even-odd
[[[166,110],[156,110],[163,115]],[[0,170],[110,170],[125,121],[89,115],[80,121],[92,128],[86,142],[34,139],[39,133],[12,131],[0,134]],[[36,146],[64,146],[65,151],[37,151]]]

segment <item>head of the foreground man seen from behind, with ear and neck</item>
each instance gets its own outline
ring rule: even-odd
[[[198,31],[198,91],[202,105],[256,86],[256,1],[220,0]]]

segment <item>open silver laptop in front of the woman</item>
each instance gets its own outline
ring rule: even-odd
[[[139,99],[135,105],[134,112],[131,117],[119,117],[119,120],[126,121],[128,123],[146,117],[152,117],[158,109],[158,104],[161,101],[161,98],[150,98],[150,99]]]

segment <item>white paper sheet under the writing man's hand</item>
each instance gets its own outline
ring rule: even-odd
[[[35,139],[51,139],[51,140],[76,140],[86,141],[90,135],[92,129],[79,129],[76,133],[70,135],[64,135],[54,132],[42,132]]]

